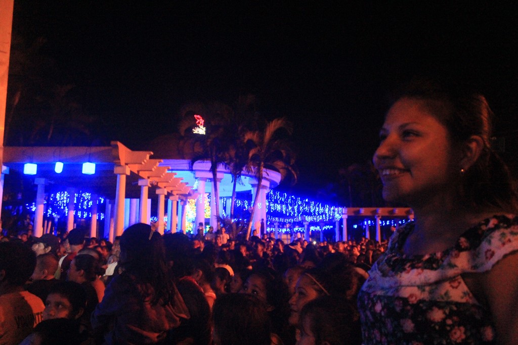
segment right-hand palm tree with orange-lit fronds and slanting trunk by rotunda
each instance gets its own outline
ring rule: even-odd
[[[292,133],[292,127],[285,118],[276,118],[266,124],[264,131],[249,131],[244,134],[244,142],[249,148],[248,162],[246,170],[252,172],[257,179],[257,192],[253,200],[252,212],[248,222],[246,239],[250,237],[252,230],[252,220],[257,208],[261,186],[263,184],[264,169],[276,170],[281,174],[281,180],[288,174],[293,177],[293,183],[296,182],[297,172],[294,166],[295,159],[292,154],[290,143],[282,137],[281,130]]]

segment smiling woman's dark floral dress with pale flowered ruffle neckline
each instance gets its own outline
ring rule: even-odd
[[[414,228],[399,228],[358,295],[364,344],[491,344],[491,313],[461,275],[489,271],[518,250],[518,217],[494,216],[459,237],[454,248],[406,257]]]

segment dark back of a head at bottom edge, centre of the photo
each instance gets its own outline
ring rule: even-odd
[[[271,326],[262,301],[246,294],[218,297],[212,310],[214,345],[270,345]]]

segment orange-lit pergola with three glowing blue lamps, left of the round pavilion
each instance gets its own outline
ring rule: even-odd
[[[170,198],[187,200],[195,198],[197,194],[193,193],[191,188],[181,181],[181,178],[176,177],[175,173],[168,172],[169,167],[159,166],[162,163],[161,159],[150,159],[152,154],[151,151],[132,151],[118,141],[111,142],[111,146],[101,147],[6,146],[4,147],[1,183],[3,184],[5,175],[9,172],[18,171],[23,175],[25,163],[37,164],[37,172],[32,175],[34,184],[38,186],[34,219],[35,236],[41,236],[44,233],[45,188],[49,184],[60,185],[66,188],[69,194],[79,188],[88,188],[95,201],[99,195],[106,196],[113,200],[113,204],[107,206],[106,218],[108,221],[105,222],[105,230],[108,229],[110,240],[114,236],[122,234],[125,219],[128,217],[132,219],[132,223],[138,221],[149,223],[148,188],[155,186],[159,199],[158,231],[164,233],[165,196],[170,195]],[[54,171],[57,161],[64,164],[61,173]],[[85,162],[95,163],[95,174],[82,173],[82,166]],[[137,198],[140,201],[138,216],[135,207],[126,207],[126,204],[131,204],[128,201]],[[92,219],[96,218],[96,207],[97,203],[93,202]],[[128,215],[126,215],[127,208],[130,208]],[[74,202],[72,200],[68,204],[67,230],[74,227],[73,211]],[[97,235],[96,224],[96,221],[91,222],[91,236]]]

